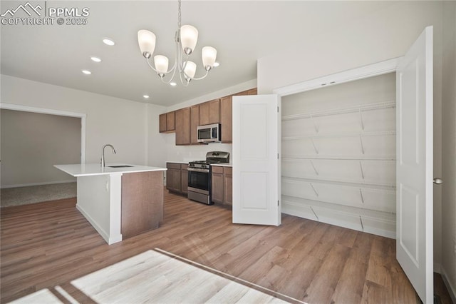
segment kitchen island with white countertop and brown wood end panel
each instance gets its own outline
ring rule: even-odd
[[[54,166],[77,178],[76,208],[109,245],[160,226],[166,168],[99,163]]]

